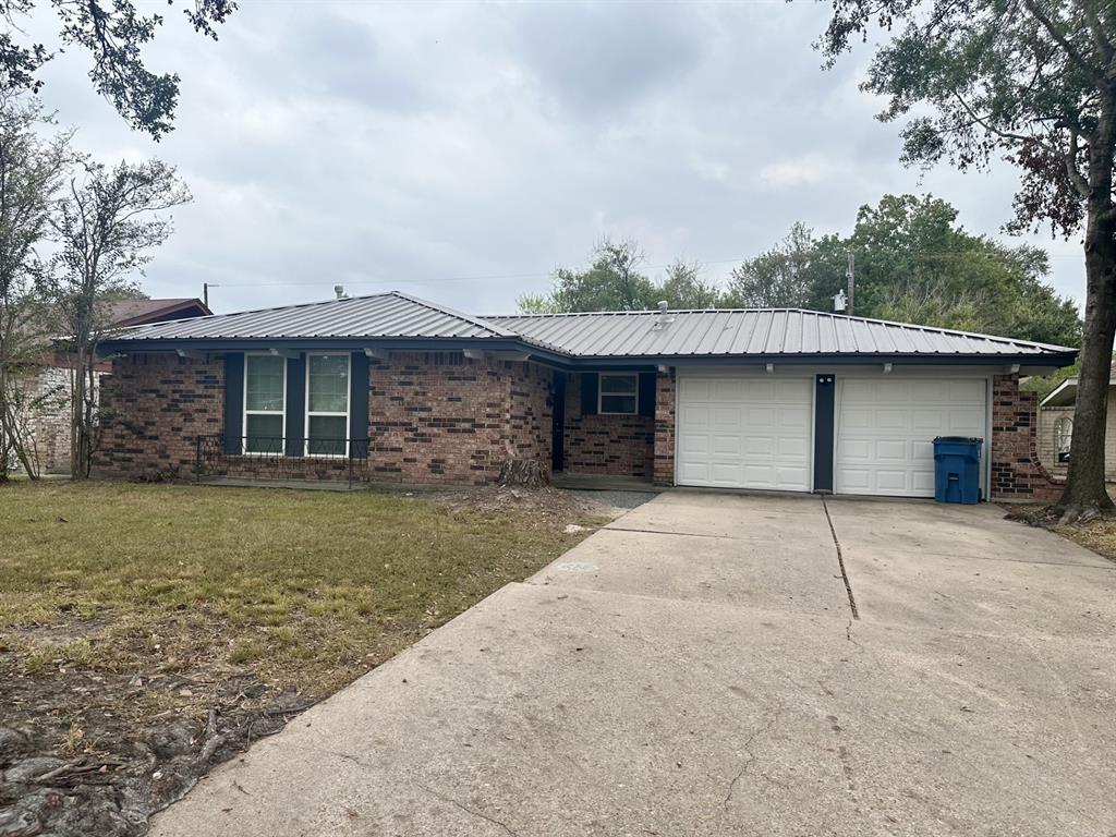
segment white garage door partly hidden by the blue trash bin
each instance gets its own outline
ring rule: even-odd
[[[838,493],[933,497],[934,436],[988,433],[984,381],[838,382]]]

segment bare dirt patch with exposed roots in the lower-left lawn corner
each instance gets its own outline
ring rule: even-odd
[[[180,799],[211,766],[270,735],[314,701],[250,673],[199,677],[57,667],[12,677],[0,728],[0,834],[127,837]],[[211,704],[198,718],[183,692]],[[189,696],[189,695],[185,695]],[[160,704],[169,709],[150,712]]]

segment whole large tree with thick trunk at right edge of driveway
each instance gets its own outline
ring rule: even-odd
[[[1020,170],[1014,230],[1085,227],[1081,374],[1066,519],[1112,511],[1104,439],[1116,336],[1116,3],[1105,0],[835,0],[820,48],[831,66],[869,29],[901,26],[862,87],[912,110],[903,158],[961,171],[1001,158]]]

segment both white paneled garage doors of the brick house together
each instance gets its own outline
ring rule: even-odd
[[[829,455],[838,493],[933,497],[934,436],[987,435],[983,378],[829,377],[831,419],[816,415],[814,376],[680,373],[679,484],[810,491]],[[829,421],[831,451],[815,445]]]

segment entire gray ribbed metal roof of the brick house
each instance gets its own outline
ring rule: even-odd
[[[117,331],[106,345],[301,338],[498,339],[602,359],[1076,353],[1065,346],[793,308],[473,317],[397,291],[137,326]]]

